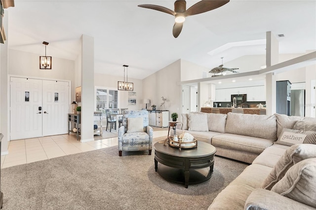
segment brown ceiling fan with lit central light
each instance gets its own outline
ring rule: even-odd
[[[216,9],[228,2],[229,0],[201,0],[191,6],[189,9],[186,9],[187,2],[185,0],[176,0],[174,2],[174,11],[169,8],[154,4],[140,4],[138,6],[158,10],[160,12],[165,12],[175,16],[175,23],[173,25],[172,34],[176,38],[178,37],[178,35],[180,35],[183,22],[185,21],[187,16],[196,15],[210,11],[212,9]]]

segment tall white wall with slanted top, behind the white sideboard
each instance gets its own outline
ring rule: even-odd
[[[156,109],[160,110],[161,97],[164,97],[167,99],[165,106],[169,115],[172,112],[181,113],[181,85],[177,85],[180,68],[181,60],[178,60],[143,79],[143,99],[151,100],[148,109],[151,109],[151,105],[157,105]]]

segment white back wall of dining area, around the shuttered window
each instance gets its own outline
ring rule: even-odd
[[[123,79],[123,70],[122,76],[112,76],[107,74],[95,73],[94,85],[98,87],[110,87],[117,90],[118,81],[123,81]],[[133,92],[136,92],[136,105],[127,105],[128,92],[130,91],[118,91],[119,108],[128,108],[129,110],[140,110],[142,108],[145,108],[146,105],[143,104],[143,81],[141,79],[133,79],[128,77],[128,82],[134,83]]]

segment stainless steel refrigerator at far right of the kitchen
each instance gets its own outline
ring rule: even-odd
[[[291,115],[305,116],[305,90],[291,90]]]

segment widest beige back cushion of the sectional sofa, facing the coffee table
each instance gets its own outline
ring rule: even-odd
[[[229,112],[225,133],[276,140],[276,116]]]

